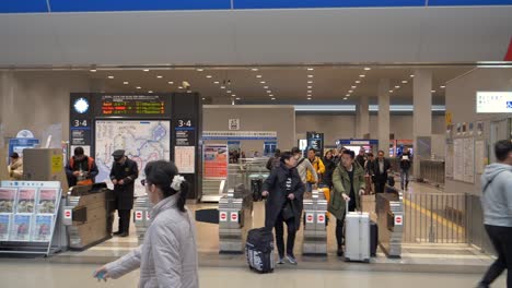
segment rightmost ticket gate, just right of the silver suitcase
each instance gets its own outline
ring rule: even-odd
[[[379,242],[388,257],[400,257],[404,235],[404,204],[397,193],[379,193]]]

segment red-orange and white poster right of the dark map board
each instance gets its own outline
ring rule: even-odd
[[[203,173],[208,179],[228,178],[228,145],[206,144],[202,152]]]

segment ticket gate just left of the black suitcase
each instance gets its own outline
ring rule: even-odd
[[[236,197],[235,197],[236,196]],[[248,194],[229,189],[219,201],[219,252],[243,253],[252,227],[253,202]]]

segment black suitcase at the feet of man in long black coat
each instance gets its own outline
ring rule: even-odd
[[[274,272],[274,233],[267,228],[252,229],[247,233],[245,256],[251,269],[258,273]]]

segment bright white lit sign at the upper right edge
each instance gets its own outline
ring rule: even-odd
[[[512,112],[512,92],[477,92],[477,113]]]

